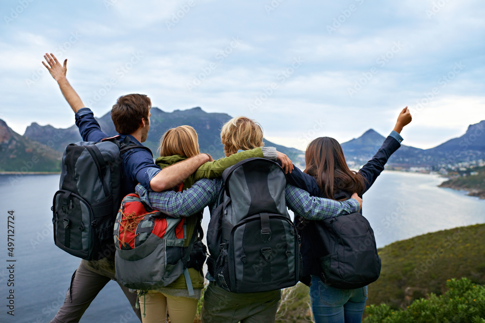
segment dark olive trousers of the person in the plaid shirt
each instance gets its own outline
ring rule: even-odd
[[[236,294],[211,281],[204,292],[202,323],[272,323],[280,299],[279,290]]]

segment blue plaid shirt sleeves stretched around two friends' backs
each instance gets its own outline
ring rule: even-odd
[[[221,178],[201,179],[182,192],[153,192],[142,185],[137,185],[136,193],[152,208],[173,217],[193,215],[204,210],[207,205],[210,206],[212,214],[217,207],[217,199],[223,185]],[[295,214],[309,220],[323,220],[359,210],[357,200],[339,202],[312,197],[307,191],[293,185],[286,185],[286,204]]]

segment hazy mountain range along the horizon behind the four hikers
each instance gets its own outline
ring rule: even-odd
[[[231,119],[226,113],[207,113],[201,108],[175,110],[165,112],[159,108],[151,108],[150,131],[144,143],[158,156],[158,147],[163,133],[172,127],[188,124],[197,131],[201,152],[209,153],[214,158],[224,156],[220,140],[220,129]],[[97,118],[101,129],[108,135],[116,135],[110,113]],[[467,132],[459,137],[448,140],[431,149],[420,149],[403,145],[389,159],[392,166],[408,167],[440,167],[440,165],[455,164],[462,161],[485,159],[485,121],[471,124]],[[377,152],[385,137],[369,129],[362,136],[342,143],[346,159],[355,165],[363,165]],[[304,152],[281,145],[276,145],[263,139],[266,146],[273,146],[287,154],[295,165],[304,167]],[[10,129],[0,120],[0,171],[59,171],[60,160],[65,146],[81,141],[76,125],[57,129],[51,125],[41,126],[32,123],[23,136]]]

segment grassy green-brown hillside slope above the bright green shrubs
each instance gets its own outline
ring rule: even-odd
[[[446,280],[485,283],[485,224],[427,233],[379,250],[381,276],[369,285],[367,305],[406,308],[427,293],[441,295]]]

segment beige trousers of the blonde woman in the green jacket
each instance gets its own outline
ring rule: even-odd
[[[167,312],[172,323],[194,323],[198,300],[157,292],[141,295],[139,302],[143,323],[166,323]]]

